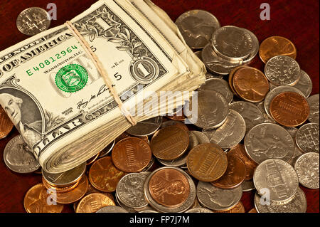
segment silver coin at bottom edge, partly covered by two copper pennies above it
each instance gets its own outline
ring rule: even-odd
[[[199,181],[197,197],[202,206],[213,211],[225,211],[238,204],[242,197],[242,187],[219,189],[210,183]]]

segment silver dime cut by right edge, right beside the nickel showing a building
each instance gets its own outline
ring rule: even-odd
[[[308,189],[319,189],[319,153],[302,154],[294,164],[300,184]]]

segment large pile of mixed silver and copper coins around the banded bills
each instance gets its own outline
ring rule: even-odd
[[[78,213],[244,213],[242,192],[252,190],[250,213],[306,212],[299,184],[319,189],[319,94],[309,97],[294,44],[272,36],[260,45],[207,11],[188,11],[176,24],[208,69],[198,120],[186,125],[179,107],[139,122],[75,169],[41,171],[27,212],[72,204]],[[257,53],[264,72],[247,65]],[[21,136],[6,145],[4,161],[20,173],[39,168]]]

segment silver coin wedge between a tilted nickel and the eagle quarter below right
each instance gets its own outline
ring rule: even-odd
[[[265,117],[263,117],[260,109],[250,103],[250,102],[233,102],[229,105],[230,109],[237,111],[245,120],[245,128],[246,132],[255,127],[255,125],[259,125],[265,122]]]

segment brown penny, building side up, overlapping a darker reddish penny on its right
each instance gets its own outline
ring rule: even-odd
[[[228,159],[217,144],[199,144],[191,149],[187,157],[190,174],[199,181],[219,179],[228,167]]]

